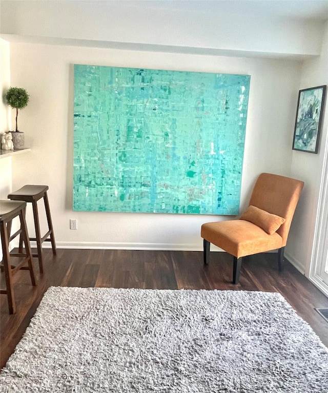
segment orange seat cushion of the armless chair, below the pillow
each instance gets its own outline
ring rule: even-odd
[[[237,258],[280,249],[282,237],[269,235],[259,226],[245,220],[207,222],[201,226],[201,237]]]

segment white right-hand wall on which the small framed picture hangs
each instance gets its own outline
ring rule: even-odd
[[[328,22],[325,23],[321,55],[302,65],[299,89],[328,85]],[[291,175],[305,182],[291,227],[286,256],[309,276],[322,179],[325,146],[328,138],[328,97],[323,114],[318,154],[292,152]]]

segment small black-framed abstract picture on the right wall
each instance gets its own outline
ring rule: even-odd
[[[326,85],[298,93],[293,150],[318,153]]]

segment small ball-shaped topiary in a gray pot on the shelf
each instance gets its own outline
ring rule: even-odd
[[[20,87],[11,87],[6,93],[7,104],[16,109],[16,129],[11,132],[14,149],[24,149],[24,132],[18,130],[18,109],[27,106],[30,96],[27,91]]]

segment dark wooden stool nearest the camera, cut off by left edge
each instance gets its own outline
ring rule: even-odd
[[[29,235],[27,233],[27,226],[25,221],[25,209],[26,202],[23,201],[10,201],[0,200],[0,221],[1,221],[1,244],[3,252],[3,266],[2,270],[5,272],[6,278],[6,289],[0,289],[1,294],[6,294],[8,297],[9,314],[14,314],[16,311],[14,291],[12,286],[12,276],[18,272],[18,270],[29,270],[32,284],[35,285],[35,277],[32,265],[32,252],[29,242]],[[11,224],[13,218],[19,216],[20,229],[10,236]],[[9,243],[16,236],[20,235],[25,243],[25,251],[18,253],[9,252]],[[23,260],[17,265],[11,265],[11,257],[23,257]],[[25,264],[28,266],[24,266]]]

